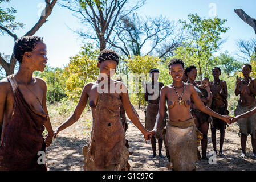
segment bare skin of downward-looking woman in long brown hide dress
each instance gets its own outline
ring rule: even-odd
[[[117,63],[116,63],[116,61],[113,61],[113,60],[105,60],[101,63],[97,63],[97,67],[100,69],[100,73],[107,75],[107,78],[103,81],[108,81],[108,82],[111,81],[111,82],[115,83],[115,86],[118,86],[118,88],[120,88],[120,90],[121,90],[120,93],[117,93],[116,90],[115,90],[115,93],[111,93],[110,92],[111,84],[108,84],[109,85],[108,93],[111,93],[111,94],[115,95],[116,97],[121,96],[121,101],[122,101],[124,109],[127,113],[127,116],[129,117],[129,119],[131,119],[133,124],[141,131],[141,133],[143,133],[144,138],[146,140],[150,140],[152,137],[152,133],[145,129],[145,127],[141,124],[139,118],[137,117],[135,111],[132,109],[132,105],[131,105],[131,102],[130,102],[129,96],[128,96],[127,87],[124,85],[123,82],[111,79],[111,76],[112,76],[111,70],[114,71],[113,73],[115,73],[116,66],[117,66]],[[94,106],[97,105],[96,102],[97,102],[97,98],[99,96],[99,93],[97,92],[97,87],[99,86],[99,82],[101,82],[101,81],[102,80],[90,82],[84,86],[82,95],[80,97],[80,100],[78,102],[78,105],[76,106],[74,113],[64,123],[62,123],[62,125],[60,125],[55,130],[54,138],[56,138],[56,135],[60,131],[66,129],[68,126],[71,126],[76,121],[78,121],[84,108],[86,107],[87,102],[92,107],[92,115],[94,116],[94,112],[95,112]]]

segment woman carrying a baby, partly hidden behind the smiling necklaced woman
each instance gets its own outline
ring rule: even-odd
[[[200,88],[200,81],[195,81],[197,77],[197,69],[194,66],[190,66],[186,68],[185,74],[188,76],[188,83],[192,84],[196,90],[198,96],[200,96],[200,99],[204,104],[208,104],[209,97],[208,93],[205,89]],[[209,129],[209,115],[202,113],[200,109],[194,104],[194,100],[192,100],[191,104],[191,110],[192,115],[195,118],[194,123],[196,124],[196,127],[199,131],[202,133],[202,140],[201,140],[201,146],[202,146],[202,159],[208,160],[206,157],[206,150],[207,150],[207,134]]]

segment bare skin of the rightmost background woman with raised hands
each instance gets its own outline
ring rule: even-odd
[[[251,69],[247,65],[243,65],[242,67],[243,73],[243,81],[237,76],[237,82],[235,83],[235,96],[240,94],[240,98],[238,104],[246,107],[255,103],[255,95],[256,95],[256,80],[255,78],[250,78]],[[245,81],[248,81],[249,84],[246,84]],[[241,157],[245,157],[246,152],[246,140],[247,136],[241,133],[241,147],[242,147],[242,155]],[[256,139],[251,138],[251,144],[253,146],[253,153],[256,155]]]

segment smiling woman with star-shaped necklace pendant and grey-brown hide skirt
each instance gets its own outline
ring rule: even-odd
[[[170,162],[174,170],[193,170],[197,160],[197,136],[194,118],[190,113],[191,100],[202,112],[229,122],[232,117],[215,113],[206,107],[192,84],[182,82],[184,63],[180,59],[170,60],[169,74],[172,84],[164,86],[160,93],[159,112],[152,131],[162,125],[165,113],[165,101],[168,105],[168,125],[166,126],[166,143],[170,154]]]

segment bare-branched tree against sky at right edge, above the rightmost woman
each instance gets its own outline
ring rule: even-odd
[[[242,60],[250,61],[254,53],[256,53],[256,38],[250,40],[237,41],[237,47],[242,55],[238,55]]]

